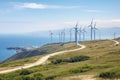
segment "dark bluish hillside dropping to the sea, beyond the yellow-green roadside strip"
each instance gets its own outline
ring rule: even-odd
[[[3,62],[10,62],[10,61],[19,60],[19,59],[28,58],[28,57],[33,57],[33,56],[38,56],[38,55],[42,55],[42,54],[53,53],[53,52],[57,52],[57,51],[61,51],[61,50],[71,49],[74,47],[75,47],[74,43],[46,44],[46,45],[41,46],[40,48],[36,48],[34,50],[16,53],[15,55],[11,56],[10,58],[6,59]]]

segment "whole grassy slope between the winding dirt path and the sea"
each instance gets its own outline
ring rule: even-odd
[[[57,51],[62,51],[62,50],[74,49],[74,48],[77,48],[75,46],[75,43],[47,44],[32,51],[17,53],[13,55],[12,57],[5,60],[4,63],[0,64],[0,70],[27,65],[37,61],[42,56],[45,56],[47,54],[57,52]]]

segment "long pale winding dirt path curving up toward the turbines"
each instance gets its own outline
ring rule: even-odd
[[[13,72],[13,71],[20,70],[20,69],[27,69],[27,68],[31,68],[31,67],[34,67],[34,66],[42,65],[48,60],[48,58],[50,58],[52,56],[67,53],[67,52],[74,52],[74,51],[78,51],[78,50],[82,50],[82,49],[86,48],[85,45],[78,44],[78,46],[80,46],[80,48],[73,49],[73,50],[65,50],[65,51],[60,51],[60,52],[55,52],[55,53],[52,53],[52,54],[48,54],[48,55],[40,58],[36,62],[28,64],[28,65],[15,67],[13,69],[2,70],[2,71],[0,71],[0,74],[9,73],[9,72]]]

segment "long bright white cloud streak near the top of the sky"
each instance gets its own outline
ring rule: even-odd
[[[15,8],[20,9],[72,9],[72,8],[79,8],[80,6],[61,6],[61,5],[45,5],[45,4],[38,4],[38,3],[19,3],[14,5]]]

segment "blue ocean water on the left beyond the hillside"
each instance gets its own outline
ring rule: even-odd
[[[14,50],[7,50],[8,47],[42,46],[47,43],[50,43],[50,38],[47,37],[0,35],[0,62],[16,53]]]

